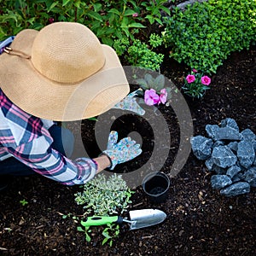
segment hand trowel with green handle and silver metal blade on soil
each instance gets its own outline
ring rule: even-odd
[[[137,230],[160,224],[166,219],[166,213],[158,209],[133,210],[129,214],[130,220],[120,216],[93,216],[84,219],[84,221],[81,221],[81,224],[84,227],[89,227],[112,223],[122,224],[125,222],[130,224],[130,230]]]

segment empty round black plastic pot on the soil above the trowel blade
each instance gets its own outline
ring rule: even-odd
[[[166,201],[170,179],[164,172],[151,172],[143,179],[143,190],[152,203]]]

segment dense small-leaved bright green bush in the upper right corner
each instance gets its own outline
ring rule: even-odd
[[[162,36],[171,56],[203,73],[216,73],[230,52],[256,40],[256,1],[209,0],[174,9]]]

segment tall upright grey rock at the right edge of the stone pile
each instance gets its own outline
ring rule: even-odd
[[[252,166],[255,158],[253,144],[247,141],[238,143],[237,158],[241,166],[245,168]]]

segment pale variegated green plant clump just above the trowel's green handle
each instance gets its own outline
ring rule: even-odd
[[[121,175],[114,173],[107,178],[99,174],[83,185],[83,191],[75,194],[75,201],[84,206],[84,215],[109,216],[125,212],[132,193]]]

